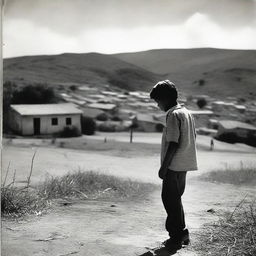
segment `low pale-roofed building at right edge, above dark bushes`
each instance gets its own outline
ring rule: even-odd
[[[232,133],[240,138],[248,138],[253,135],[256,136],[256,126],[231,120],[219,121],[217,136]]]

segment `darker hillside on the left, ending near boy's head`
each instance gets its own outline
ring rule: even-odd
[[[116,57],[99,53],[65,53],[4,60],[4,81],[13,81],[18,85],[40,82],[101,87],[110,84],[128,90],[147,90],[160,77]]]

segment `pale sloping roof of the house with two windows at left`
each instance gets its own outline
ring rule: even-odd
[[[22,116],[82,114],[83,111],[71,103],[11,105]]]

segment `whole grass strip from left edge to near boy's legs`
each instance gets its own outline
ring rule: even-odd
[[[30,177],[28,178],[28,181]],[[62,177],[47,177],[42,183],[16,187],[15,182],[1,187],[2,216],[41,215],[54,199],[135,200],[146,198],[157,187],[94,171],[81,170]]]

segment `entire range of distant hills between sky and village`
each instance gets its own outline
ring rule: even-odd
[[[159,80],[174,81],[186,95],[255,99],[256,51],[160,49],[136,53],[64,53],[4,60],[4,81],[89,84],[145,90]]]

